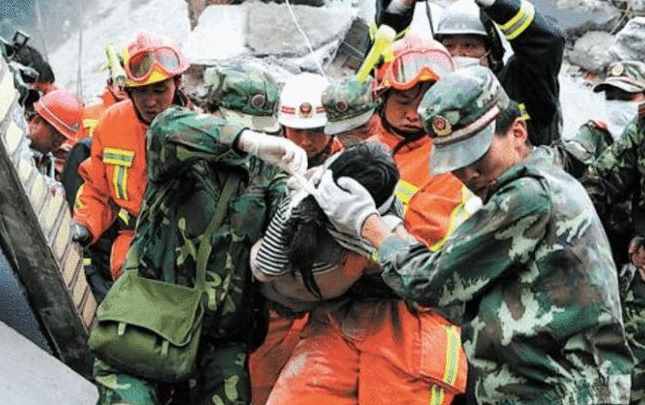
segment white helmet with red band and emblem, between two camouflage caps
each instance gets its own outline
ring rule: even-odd
[[[324,127],[327,115],[321,96],[329,81],[313,73],[301,73],[289,78],[280,93],[278,122],[296,129]]]

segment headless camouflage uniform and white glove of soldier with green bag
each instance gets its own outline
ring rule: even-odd
[[[258,158],[295,172],[306,169],[306,153],[292,142],[244,130],[212,115],[170,108],[151,124],[148,186],[126,270],[135,268],[144,277],[191,286],[197,243],[222,186],[234,173],[241,183],[223,224],[210,236],[207,312],[194,377],[185,384],[161,384],[97,361],[99,404],[159,405],[167,403],[167,396],[181,398],[175,399],[181,404],[250,403],[247,356],[257,343],[253,334],[263,319],[257,316],[250,286],[249,249],[273,215],[286,180],[279,169]],[[132,260],[137,256],[138,262]]]

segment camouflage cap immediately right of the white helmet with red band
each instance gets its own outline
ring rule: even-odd
[[[365,125],[379,103],[372,93],[372,78],[359,83],[352,75],[327,86],[322,104],[327,113],[325,133],[334,135]]]

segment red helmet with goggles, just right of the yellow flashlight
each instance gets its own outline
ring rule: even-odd
[[[394,42],[384,54],[385,62],[376,72],[376,91],[409,90],[419,82],[436,82],[456,69],[441,43],[413,33]]]

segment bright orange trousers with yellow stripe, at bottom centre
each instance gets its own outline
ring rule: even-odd
[[[251,373],[262,370],[256,363]],[[400,300],[321,306],[266,404],[447,405],[464,392],[466,374],[459,328],[430,310],[413,313]]]

